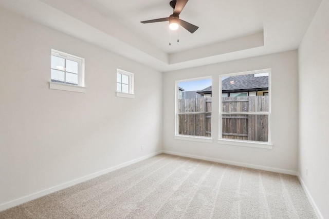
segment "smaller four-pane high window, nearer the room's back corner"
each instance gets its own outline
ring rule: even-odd
[[[120,93],[134,94],[134,74],[117,69],[117,96],[134,98]]]

